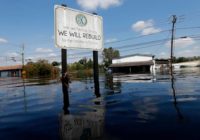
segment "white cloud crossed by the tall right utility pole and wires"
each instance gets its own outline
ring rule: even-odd
[[[191,46],[195,43],[194,39],[187,37],[187,38],[178,38],[174,40],[174,46],[175,47],[181,47],[181,48],[185,48],[188,46]],[[171,41],[168,41],[166,43],[167,47],[170,47],[171,45]]]

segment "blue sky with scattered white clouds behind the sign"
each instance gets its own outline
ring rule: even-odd
[[[53,39],[53,10],[62,3],[102,16],[104,47],[119,49],[121,56],[146,53],[169,57],[171,15],[177,16],[174,55],[200,54],[199,0],[0,0],[0,65],[20,64],[22,44],[27,61],[60,61],[60,49],[55,48]],[[182,36],[187,38],[180,39]],[[69,50],[69,62],[92,55],[91,51],[80,52]]]

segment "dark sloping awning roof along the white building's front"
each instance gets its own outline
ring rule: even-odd
[[[150,66],[150,65],[153,65],[153,61],[115,63],[111,64],[110,67],[116,68],[116,67],[131,67],[131,66]]]

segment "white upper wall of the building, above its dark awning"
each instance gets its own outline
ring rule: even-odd
[[[127,63],[127,62],[141,62],[141,61],[151,61],[151,56],[130,56],[121,59],[114,59],[112,60],[113,64],[116,63]]]

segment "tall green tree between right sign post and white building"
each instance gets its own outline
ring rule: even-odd
[[[102,55],[103,55],[103,65],[105,70],[112,64],[112,60],[114,58],[120,57],[119,50],[115,50],[112,47],[105,48],[103,50]]]

